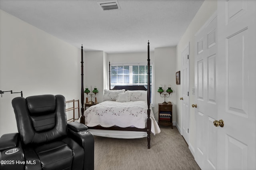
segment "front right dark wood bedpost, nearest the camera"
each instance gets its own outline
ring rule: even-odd
[[[148,133],[148,149],[150,149],[150,133],[151,133],[151,119],[150,119],[150,56],[149,56],[149,40],[148,40],[148,119],[147,119],[147,133]]]

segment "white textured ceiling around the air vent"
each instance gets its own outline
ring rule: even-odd
[[[176,46],[204,0],[0,0],[0,9],[85,51],[144,52]]]

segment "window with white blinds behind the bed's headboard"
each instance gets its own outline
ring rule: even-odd
[[[144,85],[148,89],[147,64],[116,64],[110,67],[110,87],[115,85]],[[150,64],[150,94],[152,101],[152,65]]]

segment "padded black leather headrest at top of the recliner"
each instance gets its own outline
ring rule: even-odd
[[[54,113],[56,109],[56,97],[54,95],[30,96],[26,98],[26,101],[31,116]]]

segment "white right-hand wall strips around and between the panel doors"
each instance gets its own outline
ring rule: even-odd
[[[186,32],[182,36],[180,42],[177,45],[176,53],[177,53],[177,59],[176,59],[176,71],[181,70],[181,53],[182,50],[186,47],[188,42],[190,42],[190,94],[192,94],[192,88],[194,88],[194,55],[195,55],[195,34],[198,32],[198,30],[204,25],[204,23],[214,14],[214,12],[217,10],[217,0],[205,0],[200,9],[198,10],[196,16],[188,26]],[[177,85],[177,95],[176,95],[176,101],[177,101],[177,115],[179,115],[179,118],[181,115],[181,86]],[[195,96],[190,95],[190,103],[193,104],[195,101]],[[176,123],[179,127],[182,127],[181,119],[176,119]],[[195,112],[194,108],[190,107],[190,129],[189,129],[189,147],[190,150],[192,150],[192,153],[194,152],[194,146],[196,142],[196,136],[195,136]]]

